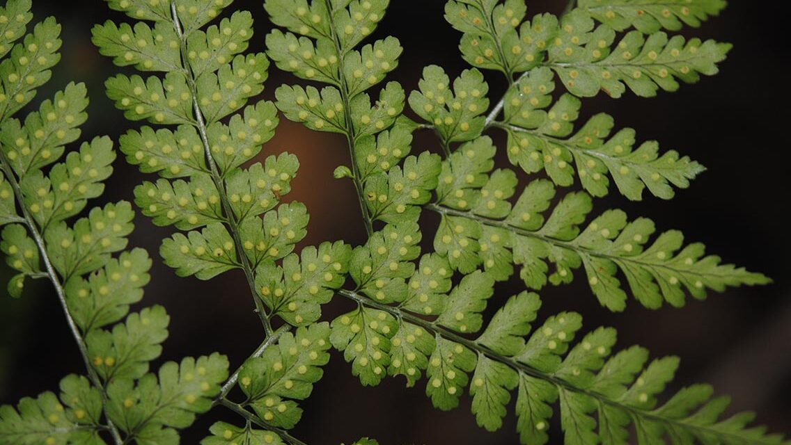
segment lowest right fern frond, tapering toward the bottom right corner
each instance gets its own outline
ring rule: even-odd
[[[489,281],[490,289],[491,283],[494,281]],[[359,305],[359,314],[371,320],[365,327],[350,326],[376,330],[373,338],[379,339],[376,366],[380,369],[384,370],[391,360],[402,360],[396,347],[400,347],[402,338],[408,345],[421,345],[421,356],[412,353],[407,360],[411,357],[412,374],[426,371],[426,395],[437,408],[456,408],[468,388],[478,423],[495,431],[501,428],[516,391],[521,443],[547,443],[556,404],[560,406],[559,421],[566,443],[626,443],[630,427],[638,439],[652,443],[660,443],[665,437],[671,437],[674,443],[783,443],[782,436],[749,427],[750,413],[721,419],[728,400],[712,398],[708,385],[687,387],[659,404],[658,396],[678,367],[676,357],[653,360],[645,366],[648,353],[638,346],[611,356],[615,330],[610,328],[593,330],[574,342],[581,329],[581,316],[573,312],[554,315],[532,330],[540,306],[536,294],[513,296],[483,334],[470,340],[460,334],[480,332],[482,326],[476,315],[486,307],[490,292],[459,295],[456,298],[464,302],[464,310],[457,311],[457,304],[448,306],[428,320],[356,292],[341,293]],[[335,319],[333,335],[335,330],[350,330],[345,323],[347,317]],[[373,325],[377,319],[389,322]],[[469,320],[471,323],[466,324]],[[361,321],[366,319],[350,320]],[[347,348],[345,343],[340,346]],[[354,347],[348,347],[346,355],[350,349]],[[407,382],[413,383],[411,379]]]

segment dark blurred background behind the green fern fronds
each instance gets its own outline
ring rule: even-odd
[[[456,50],[460,35],[443,19],[444,3],[392,0],[374,36],[394,35],[401,40],[404,54],[392,77],[407,91],[417,87],[422,66],[439,64],[451,77],[466,67]],[[528,14],[560,13],[564,6],[565,0],[531,0]],[[252,11],[256,20],[252,49],[261,51],[263,37],[271,28],[262,2],[237,1],[230,9]],[[108,19],[127,18],[99,0],[35,0],[34,13],[36,21],[55,15],[63,26],[62,61],[34,104],[37,107],[39,100],[69,81],[84,81],[91,104],[83,139],[108,134],[117,141],[130,124],[104,96],[103,83],[119,69],[93,47],[90,28]],[[611,314],[596,303],[585,280],[577,280],[573,285],[544,289],[541,315],[581,311],[588,330],[602,324],[618,328],[621,346],[644,345],[654,356],[677,354],[682,365],[673,389],[682,384],[713,383],[719,394],[732,395],[731,411],[755,409],[760,423],[774,431],[789,432],[791,243],[785,218],[791,200],[787,196],[788,138],[780,131],[788,125],[784,119],[788,117],[789,95],[783,77],[789,72],[789,63],[783,56],[787,54],[785,40],[770,38],[763,31],[784,28],[782,20],[782,14],[768,13],[755,2],[732,2],[722,17],[699,30],[683,31],[734,43],[729,59],[721,65],[721,74],[704,78],[698,85],[684,85],[676,93],[660,92],[650,100],[631,94],[620,100],[600,95],[585,100],[581,118],[607,111],[615,116],[618,127],[636,128],[639,141],[657,139],[663,149],[677,149],[709,168],[672,202],[653,197],[626,202],[611,190],[610,197],[596,202],[596,209],[620,206],[632,216],[653,218],[658,228],[681,228],[687,239],[706,243],[708,251],[722,255],[725,262],[766,273],[775,284],[712,294],[705,302],[690,301],[682,310],[665,307],[649,311],[632,300],[624,313]],[[503,79],[500,74],[486,75],[494,102],[504,89]],[[274,89],[283,82],[296,80],[273,67],[264,98],[273,99]],[[437,150],[433,135],[416,138],[413,150],[423,149]],[[311,213],[308,237],[301,244],[327,239],[362,243],[365,232],[354,190],[349,183],[332,179],[335,166],[348,164],[343,138],[314,133],[284,119],[261,159],[282,151],[296,153],[301,161],[293,192],[287,197],[305,202]],[[100,201],[131,200],[133,187],[141,181],[142,175],[119,158]],[[433,215],[424,219],[424,238],[430,245],[437,220]],[[152,281],[142,304],[162,304],[172,319],[159,363],[220,351],[229,355],[232,368],[236,368],[262,338],[244,278],[240,273],[226,273],[208,282],[176,277],[157,254],[161,239],[170,232],[170,228],[154,227],[146,217],[138,217],[131,236],[131,246],[145,247],[154,258]],[[2,268],[5,294],[9,274]],[[502,304],[522,287],[517,281],[498,285],[490,307]],[[350,307],[345,300],[334,300],[325,307],[324,318]],[[83,371],[48,283],[29,285],[20,300],[5,295],[0,298],[0,402],[15,403],[25,395],[56,390],[62,375]],[[441,413],[431,407],[424,384],[404,390],[403,379],[388,378],[379,387],[363,388],[343,357],[333,353],[324,379],[301,404],[305,414],[293,434],[308,443],[350,442],[361,436],[377,437],[388,445],[518,442],[513,413],[506,417],[500,432],[487,433],[476,426],[467,396],[460,408]],[[221,408],[214,409],[184,432],[182,442],[198,443],[215,420],[237,418]],[[555,417],[553,442],[562,441],[558,424]]]

